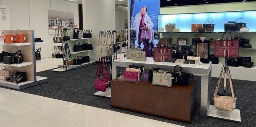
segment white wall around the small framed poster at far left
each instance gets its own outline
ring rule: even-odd
[[[79,25],[78,3],[66,0],[0,0],[2,5],[10,6],[11,30],[34,30],[35,37],[42,38],[45,45],[41,57],[52,56],[52,35],[48,33],[48,10],[74,12],[74,24]]]

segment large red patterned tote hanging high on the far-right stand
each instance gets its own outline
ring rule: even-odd
[[[228,40],[228,33],[231,36],[231,40]],[[226,34],[226,40],[223,40],[224,35]],[[238,58],[239,57],[239,42],[238,40],[233,40],[233,37],[230,31],[226,31],[222,35],[221,40],[215,41],[215,57],[223,57],[223,58]]]

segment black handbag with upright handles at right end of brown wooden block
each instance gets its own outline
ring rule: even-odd
[[[180,71],[176,71],[176,69],[179,68]],[[182,68],[180,65],[176,65],[174,67],[173,71],[170,71],[170,73],[173,75],[172,83],[177,85],[183,85],[186,86],[188,84],[187,81],[187,73],[182,71]]]

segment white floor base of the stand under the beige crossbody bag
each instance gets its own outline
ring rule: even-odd
[[[241,115],[239,109],[234,109],[233,111],[224,111],[216,109],[214,105],[210,105],[207,113],[208,117],[213,117],[216,119],[223,119],[227,121],[233,121],[241,123]]]

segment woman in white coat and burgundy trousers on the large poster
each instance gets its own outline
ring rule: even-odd
[[[151,21],[150,17],[147,14],[148,8],[146,6],[143,6],[141,8],[140,13],[136,14],[132,29],[136,30],[136,42],[135,44],[141,44],[141,41],[143,42],[144,48],[146,50],[146,56],[147,57],[152,57],[150,54],[150,46],[149,46],[149,41],[150,39],[144,39],[140,38],[141,32],[144,29],[151,30],[151,39],[154,39],[154,34],[152,28],[154,26],[153,22]],[[140,45],[139,45],[140,46]]]

